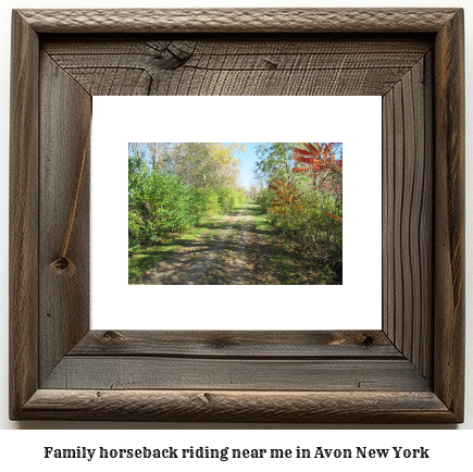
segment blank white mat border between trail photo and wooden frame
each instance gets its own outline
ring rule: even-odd
[[[381,123],[381,97],[95,97],[92,328],[379,330]],[[344,285],[128,285],[128,141],[343,142]]]

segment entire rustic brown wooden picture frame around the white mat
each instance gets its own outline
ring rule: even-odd
[[[463,420],[462,10],[22,10],[12,39],[11,419]],[[94,95],[382,96],[383,330],[89,331]]]

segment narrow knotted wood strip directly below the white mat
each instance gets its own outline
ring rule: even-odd
[[[383,332],[90,331],[70,356],[402,359]]]

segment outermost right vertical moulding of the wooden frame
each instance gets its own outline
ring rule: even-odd
[[[464,387],[463,12],[436,37],[434,392],[463,414]],[[441,270],[440,270],[441,268]]]

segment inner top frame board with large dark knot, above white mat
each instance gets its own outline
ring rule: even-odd
[[[386,36],[46,40],[91,95],[384,95],[431,41]]]

